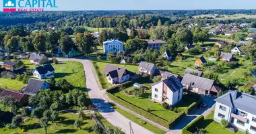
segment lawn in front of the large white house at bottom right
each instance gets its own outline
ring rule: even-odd
[[[197,126],[198,128],[202,128],[206,130],[206,133],[212,133],[212,134],[232,134],[231,131],[228,131],[227,129],[224,129],[220,123],[217,123],[214,121],[214,112],[210,113],[210,115],[207,115],[205,117],[204,121],[200,123],[200,126]],[[238,131],[238,134],[241,134],[241,131]]]

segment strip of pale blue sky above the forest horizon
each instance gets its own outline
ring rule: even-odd
[[[0,10],[3,10],[3,0]],[[19,0],[17,0],[19,1]],[[26,0],[25,0],[26,1]],[[32,1],[32,0],[30,0]],[[256,0],[56,0],[57,9],[46,10],[145,10],[145,9],[256,9]]]

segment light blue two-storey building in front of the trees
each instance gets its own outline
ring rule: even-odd
[[[123,42],[119,40],[107,40],[103,42],[104,53],[108,54],[108,52],[117,53],[119,51],[124,51]]]

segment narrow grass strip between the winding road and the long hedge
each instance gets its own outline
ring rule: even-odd
[[[150,123],[145,123],[145,121],[139,119],[138,117],[135,117],[131,113],[128,113],[127,111],[124,111],[123,109],[120,109],[119,107],[117,107],[117,106],[115,106],[113,104],[110,104],[110,105],[112,105],[112,107],[117,112],[119,112],[121,115],[123,115],[127,119],[133,121],[134,123],[137,123],[138,125],[141,125],[141,127],[144,127],[146,129],[148,129],[149,131],[152,131],[152,132],[157,133],[157,134],[166,133],[162,129],[159,129],[158,127],[155,127],[154,125],[151,125]]]

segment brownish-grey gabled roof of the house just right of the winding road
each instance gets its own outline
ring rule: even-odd
[[[106,64],[106,67],[103,70],[104,73],[109,74],[111,78],[121,78],[127,70],[113,64]],[[129,73],[129,72],[128,72]]]

